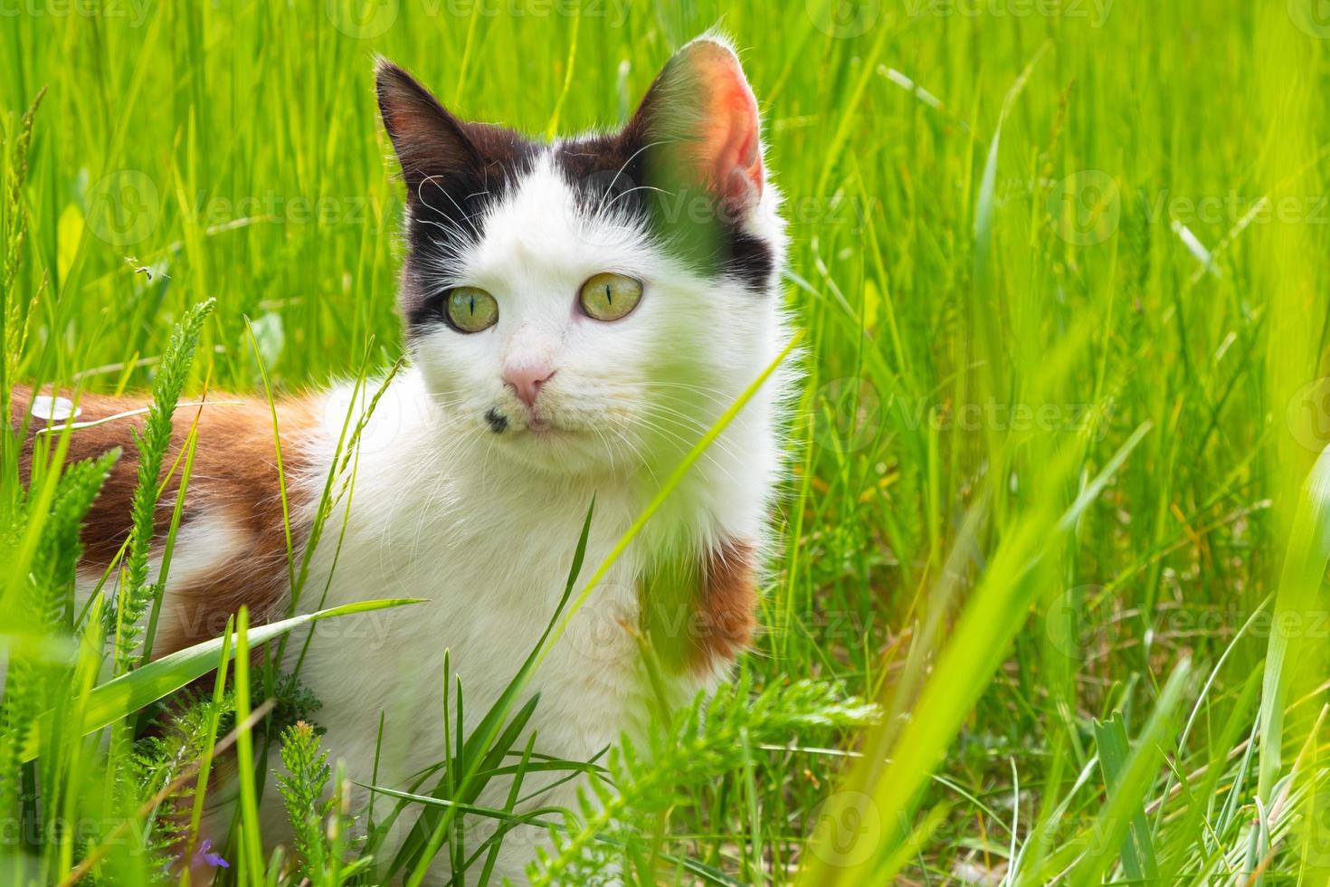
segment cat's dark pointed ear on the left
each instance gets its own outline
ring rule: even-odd
[[[387,59],[380,57],[375,65],[375,90],[383,128],[392,140],[407,184],[407,199],[419,201],[420,186],[431,178],[447,181],[480,166],[480,156],[462,122],[428,89]]]

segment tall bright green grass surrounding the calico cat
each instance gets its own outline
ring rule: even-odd
[[[372,392],[400,352],[372,56],[463,116],[549,133],[621,121],[720,24],[765,112],[806,336],[783,561],[737,694],[662,727],[654,755],[592,765],[624,815],[543,811],[560,850],[541,876],[618,859],[633,882],[1326,882],[1330,24],[1313,0],[354,5],[4,11],[0,396],[169,388],[173,367],[186,392]],[[207,299],[196,359],[164,367]],[[282,694],[239,657],[242,680],[200,697],[201,741],[136,743],[140,707],[222,641],[97,686],[129,665],[113,612],[74,634],[65,598],[105,467],[24,492],[8,436],[0,455],[0,882],[92,859],[98,883],[142,883],[158,793],[214,743],[277,741],[247,714]],[[862,730],[859,698],[880,705]],[[400,803],[447,823],[504,761],[572,766],[513,745],[524,711],[456,737],[472,769]],[[309,742],[287,746],[306,771],[290,790],[340,791]],[[251,824],[226,876],[368,878],[368,850],[332,831],[274,862]],[[483,848],[438,835],[479,883]]]

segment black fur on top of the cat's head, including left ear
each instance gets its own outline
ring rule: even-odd
[[[551,149],[503,126],[458,120],[404,70],[380,63],[379,109],[407,190],[402,313],[408,330],[446,322],[447,293],[434,282],[456,271],[459,255],[481,239],[488,207],[515,189],[545,150],[573,188],[581,211],[612,207],[638,219],[694,271],[769,293],[775,253],[749,231],[745,214],[753,207],[737,210],[714,184],[678,162],[674,149],[688,142],[678,134],[678,121],[705,105],[686,74],[688,65],[676,56],[620,133]]]

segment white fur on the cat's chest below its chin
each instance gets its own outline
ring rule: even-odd
[[[614,561],[532,676],[519,702],[540,694],[528,729],[537,753],[587,761],[620,734],[646,726],[652,701],[637,638],[640,555],[653,540],[706,545],[733,533],[761,537],[775,452],[738,448],[749,423],[769,408],[754,406],[734,440],[698,463],[670,507]],[[311,500],[327,476],[346,411],[347,392],[331,392],[311,472],[301,481]],[[407,789],[412,774],[442,761],[444,730],[455,730],[458,681],[469,734],[555,617],[592,500],[573,598],[645,504],[641,479],[533,473],[491,447],[484,436],[451,431],[420,379],[406,374],[368,420],[354,460],[351,507],[334,507],[315,549],[302,612],[427,598],[318,625],[299,664],[301,681],[322,702],[315,717],[327,727],[325,745],[355,781],[371,782],[378,761],[379,785]],[[289,668],[299,654],[301,644],[291,644]],[[447,718],[446,656],[452,673]],[[677,674],[670,701],[690,698],[722,670]],[[568,785],[541,801],[569,803],[572,791]],[[501,806],[505,793],[497,782],[481,803]]]

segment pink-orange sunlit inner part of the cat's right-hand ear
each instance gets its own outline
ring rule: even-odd
[[[724,199],[750,209],[762,195],[757,100],[738,60],[720,44],[697,44],[693,70],[706,96],[698,160],[710,166],[708,178]]]

